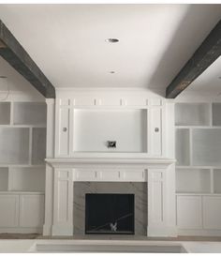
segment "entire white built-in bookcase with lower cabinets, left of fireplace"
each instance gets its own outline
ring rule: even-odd
[[[0,102],[0,233],[41,233],[46,103]]]

